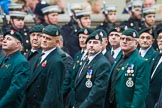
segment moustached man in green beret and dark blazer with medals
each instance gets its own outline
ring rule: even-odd
[[[110,63],[102,54],[102,37],[91,33],[86,40],[88,56],[77,72],[74,83],[75,108],[104,108],[105,85]]]

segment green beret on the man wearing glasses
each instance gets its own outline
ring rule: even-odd
[[[138,38],[139,34],[135,29],[128,28],[122,32],[122,35],[131,36],[133,38]]]

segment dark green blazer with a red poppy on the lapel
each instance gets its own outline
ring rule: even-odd
[[[35,63],[32,73],[21,107],[62,108],[65,66],[57,49],[53,50],[41,64]]]

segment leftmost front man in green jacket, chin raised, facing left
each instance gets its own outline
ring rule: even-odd
[[[22,37],[13,30],[4,34],[0,59],[0,108],[19,108],[27,83],[30,66],[21,54]]]

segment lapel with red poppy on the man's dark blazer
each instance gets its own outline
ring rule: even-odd
[[[47,65],[48,65],[48,62],[49,62],[49,60],[51,60],[51,56],[53,56],[54,54],[55,54],[55,52],[56,52],[56,49],[55,50],[53,50],[42,62],[41,62],[41,64],[37,67],[37,63],[35,64],[35,66],[34,66],[34,70],[32,71],[33,72],[33,74],[32,74],[32,76],[31,76],[31,78],[30,78],[30,81],[29,81],[29,83],[28,83],[28,87],[30,86],[30,84],[38,77],[38,75],[44,70],[44,69],[46,69],[46,67],[43,67],[42,66],[42,63],[44,63],[45,61],[47,61],[46,63],[47,63]]]

